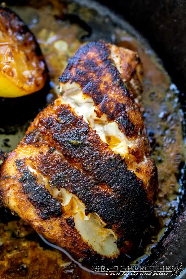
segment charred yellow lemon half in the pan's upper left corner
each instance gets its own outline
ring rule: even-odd
[[[0,97],[20,97],[45,85],[47,67],[25,23],[0,6]]]

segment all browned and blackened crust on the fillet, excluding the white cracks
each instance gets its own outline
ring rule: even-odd
[[[81,55],[90,55],[91,51],[92,60],[96,56],[95,64],[100,66],[93,65],[94,61],[91,59],[81,61]],[[108,45],[102,42],[82,47],[74,60],[70,61],[60,80],[65,82],[68,76],[66,81],[70,79],[71,82],[75,80],[82,84],[82,91],[86,91],[94,100],[98,115],[106,113],[108,119],[115,120],[129,139],[136,138],[140,142],[143,135],[144,141],[148,143],[139,108],[135,105],[133,96],[122,85],[116,67],[110,65],[107,51]],[[84,67],[83,73],[79,70],[80,66]],[[92,67],[95,69],[93,72]],[[70,71],[75,71],[76,74],[72,76]],[[86,86],[87,78],[90,84]],[[104,87],[103,91],[94,95],[93,89],[98,92],[98,86],[102,86],[101,79],[104,78],[107,79],[107,95]],[[115,82],[117,86],[112,85]],[[115,94],[111,92],[114,90]],[[126,111],[129,110],[131,111],[127,116]],[[139,121],[133,121],[136,115]],[[130,123],[133,129],[130,128]],[[139,131],[141,135],[138,134]],[[70,251],[76,259],[83,258],[94,263],[108,260],[96,254],[82,240],[74,228],[73,218],[67,218],[63,214],[59,200],[53,198],[39,181],[39,176],[28,169],[28,163],[32,163],[36,172],[46,177],[51,186],[65,188],[76,195],[85,205],[87,215],[96,212],[106,223],[106,228],[112,228],[115,232],[120,256],[129,254],[136,248],[147,226],[157,184],[157,170],[148,157],[149,145],[146,148],[144,145],[136,148],[144,148],[142,153],[147,156],[146,161],[135,170],[141,175],[138,178],[133,171],[128,170],[125,159],[102,142],[83,117],[79,117],[68,104],[64,104],[59,96],[38,114],[24,139],[3,164],[0,191],[4,205],[17,212],[49,241]],[[131,152],[135,157],[135,151]],[[139,162],[139,156],[135,158]]]

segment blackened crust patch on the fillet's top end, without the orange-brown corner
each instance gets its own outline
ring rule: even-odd
[[[93,58],[91,58],[92,56]],[[108,44],[101,41],[90,42],[79,48],[69,60],[59,81],[78,83],[82,92],[94,100],[98,117],[105,113],[108,121],[116,121],[120,130],[129,138],[138,134],[138,127],[135,127],[133,121],[130,120],[127,111],[135,107],[139,119],[141,119],[141,115],[110,58]],[[109,87],[112,88],[112,91],[119,92],[117,94],[120,97],[109,95]],[[126,100],[125,105],[120,100],[123,98]]]

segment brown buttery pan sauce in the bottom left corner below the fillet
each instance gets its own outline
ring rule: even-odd
[[[4,209],[0,213],[8,216]],[[0,223],[0,236],[0,278],[95,278],[58,250],[51,250],[23,220]]]

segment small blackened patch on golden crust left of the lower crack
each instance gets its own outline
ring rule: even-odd
[[[35,176],[25,166],[24,160],[15,160],[17,170],[21,174],[18,181],[22,184],[23,192],[28,195],[29,201],[39,210],[42,219],[61,216],[61,204],[53,198],[44,185],[37,183]]]

